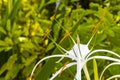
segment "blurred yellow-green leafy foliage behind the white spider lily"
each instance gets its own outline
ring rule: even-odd
[[[56,1],[0,0],[0,80],[27,80],[38,60],[48,55],[61,54],[54,42],[46,36],[51,35],[56,43],[69,50],[73,45],[69,37],[62,40],[68,32],[75,40],[78,34],[81,43],[87,43],[98,23],[96,35],[89,47],[120,53],[119,0],[60,0],[60,5],[55,10]],[[107,13],[101,19],[105,8]],[[56,64],[56,60],[58,59],[40,64],[34,79],[49,79],[52,73],[68,61],[65,59]],[[97,60],[98,72],[109,63]],[[88,62],[92,79],[94,74],[91,64],[92,61]],[[119,68],[120,66],[109,68],[104,76],[120,74]],[[75,70],[73,66],[55,80],[73,80]]]

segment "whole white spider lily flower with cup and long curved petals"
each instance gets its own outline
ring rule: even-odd
[[[114,62],[119,62],[120,63],[120,60],[117,59],[117,58],[112,58],[112,57],[108,57],[108,56],[91,56],[92,54],[94,53],[97,53],[97,52],[107,52],[107,53],[110,53],[112,55],[115,55],[117,56],[118,58],[120,58],[120,55],[118,55],[117,53],[115,52],[112,52],[112,51],[109,51],[109,50],[105,50],[105,49],[98,49],[98,50],[90,50],[88,48],[88,45],[91,41],[88,42],[88,44],[80,44],[80,41],[79,39],[77,39],[77,43],[74,42],[74,46],[71,48],[71,50],[67,51],[65,50],[64,48],[60,47],[64,52],[65,54],[58,54],[58,55],[51,55],[51,56],[47,56],[47,57],[44,57],[43,59],[41,59],[33,68],[32,70],[32,73],[31,75],[33,75],[36,67],[44,60],[46,59],[49,59],[49,58],[54,58],[54,57],[61,57],[61,59],[57,62],[60,62],[63,58],[67,57],[67,58],[70,58],[73,60],[73,62],[67,64],[63,70],[73,66],[73,65],[77,65],[77,68],[76,68],[76,75],[75,75],[75,78],[74,80],[81,80],[81,72],[82,72],[82,69],[87,69],[86,67],[86,63],[89,61],[89,60],[92,60],[92,59],[104,59],[104,60],[111,60],[111,61],[114,61]],[[54,78],[60,74],[60,72],[62,71],[62,68],[59,69],[58,71],[56,71],[56,73],[50,78],[50,80],[54,80]],[[89,77],[89,73],[87,70],[84,71],[85,72],[85,75],[86,75],[86,78],[87,80],[90,80],[90,77]],[[31,79],[30,79],[31,80]]]

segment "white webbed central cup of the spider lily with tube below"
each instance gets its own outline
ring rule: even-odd
[[[71,59],[77,62],[76,80],[81,80],[81,70],[85,65],[85,57],[89,52],[88,46],[84,44],[74,44],[73,48],[67,52]]]

